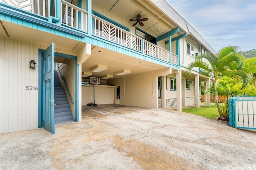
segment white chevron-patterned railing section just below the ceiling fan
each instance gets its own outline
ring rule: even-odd
[[[142,39],[140,37],[96,16],[92,16],[92,18],[94,21],[94,35],[142,52]]]

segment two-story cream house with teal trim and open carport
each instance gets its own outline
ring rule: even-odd
[[[0,133],[94,103],[182,111],[210,86],[186,66],[214,49],[164,0],[0,0],[0,23]]]

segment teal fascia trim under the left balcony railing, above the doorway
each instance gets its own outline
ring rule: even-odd
[[[13,6],[8,6],[2,2],[0,2],[0,14],[1,20],[60,35],[63,37],[70,38],[70,35],[74,35],[77,37],[76,40],[78,40],[80,37],[85,37],[86,35],[86,33],[79,29],[67,26],[66,24],[56,25],[54,23],[49,23],[48,19],[45,17],[15,8]]]

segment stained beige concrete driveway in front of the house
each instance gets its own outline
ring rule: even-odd
[[[0,169],[256,170],[256,131],[170,109],[82,109],[82,121],[56,125],[54,135],[1,134]]]

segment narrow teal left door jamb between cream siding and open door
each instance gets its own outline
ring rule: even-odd
[[[44,50],[38,50],[38,128],[42,127],[42,54]]]

